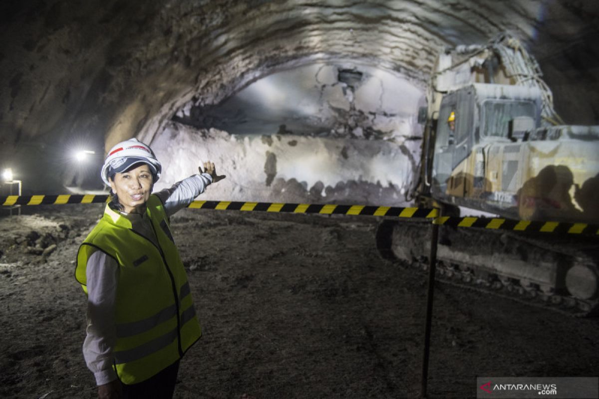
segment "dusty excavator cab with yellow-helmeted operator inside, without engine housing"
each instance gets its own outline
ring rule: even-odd
[[[513,185],[520,182],[517,175],[524,160],[489,165],[489,159],[508,144],[509,151],[518,153],[525,136],[522,126],[538,127],[540,108],[541,93],[530,87],[471,84],[444,95],[432,162],[432,196],[490,212],[515,205],[512,197],[518,187]],[[450,119],[455,119],[453,124],[443,123]]]

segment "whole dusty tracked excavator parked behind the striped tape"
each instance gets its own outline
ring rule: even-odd
[[[515,36],[438,54],[412,199],[449,216],[599,224],[599,126],[566,125],[538,63]],[[428,221],[430,224],[430,221]],[[426,269],[423,222],[385,219],[386,258]],[[441,226],[437,278],[533,306],[599,309],[599,240]]]

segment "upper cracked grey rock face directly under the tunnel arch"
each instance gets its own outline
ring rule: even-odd
[[[391,139],[416,135],[425,87],[351,60],[314,63],[258,80],[217,105],[193,101],[174,120],[235,135]]]

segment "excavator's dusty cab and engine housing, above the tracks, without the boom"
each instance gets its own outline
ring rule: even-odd
[[[578,206],[573,199],[576,187],[597,180],[599,127],[541,127],[542,103],[539,89],[500,84],[444,95],[432,197],[508,218],[596,223],[586,197]]]

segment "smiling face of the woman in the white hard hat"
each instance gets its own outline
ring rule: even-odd
[[[114,179],[110,179],[110,188],[119,197],[119,202],[130,214],[139,206],[146,204],[152,194],[154,180],[150,167],[143,164],[129,172],[116,173]],[[138,209],[141,210],[141,209]]]

